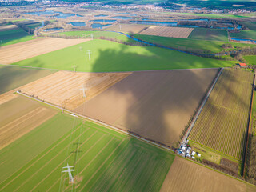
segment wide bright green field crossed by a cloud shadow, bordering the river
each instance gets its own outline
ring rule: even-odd
[[[87,52],[81,50],[90,50],[90,60]],[[201,58],[153,46],[126,46],[117,42],[96,39],[15,62],[14,65],[73,70],[74,63],[78,71],[117,72],[217,68],[232,66],[235,62]]]

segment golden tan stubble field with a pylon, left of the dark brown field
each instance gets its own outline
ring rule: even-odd
[[[22,93],[33,95],[35,98],[74,110],[83,102],[94,98],[94,96],[113,86],[122,78],[126,78],[129,74],[89,74],[58,71],[22,86],[19,90]],[[83,87],[86,89],[86,98],[83,98],[83,91],[81,90]]]

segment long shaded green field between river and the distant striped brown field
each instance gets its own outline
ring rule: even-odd
[[[208,40],[194,40],[190,38],[167,38],[167,37],[159,37],[153,35],[143,35],[143,34],[133,34],[135,38],[142,39],[146,42],[152,42],[162,46],[169,46],[174,49],[186,50],[186,51],[198,51],[209,54],[209,53],[218,53],[222,50],[222,45],[226,42],[219,41],[208,41]],[[234,49],[238,47],[250,46],[256,47],[253,44],[244,44],[237,42],[230,42]]]

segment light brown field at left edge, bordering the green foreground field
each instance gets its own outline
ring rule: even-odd
[[[22,96],[0,108],[0,150],[58,113]]]

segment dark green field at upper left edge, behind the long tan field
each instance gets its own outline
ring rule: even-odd
[[[35,39],[34,35],[26,33],[26,31],[18,28],[15,30],[0,31],[0,46],[8,46],[18,42],[26,42]]]

